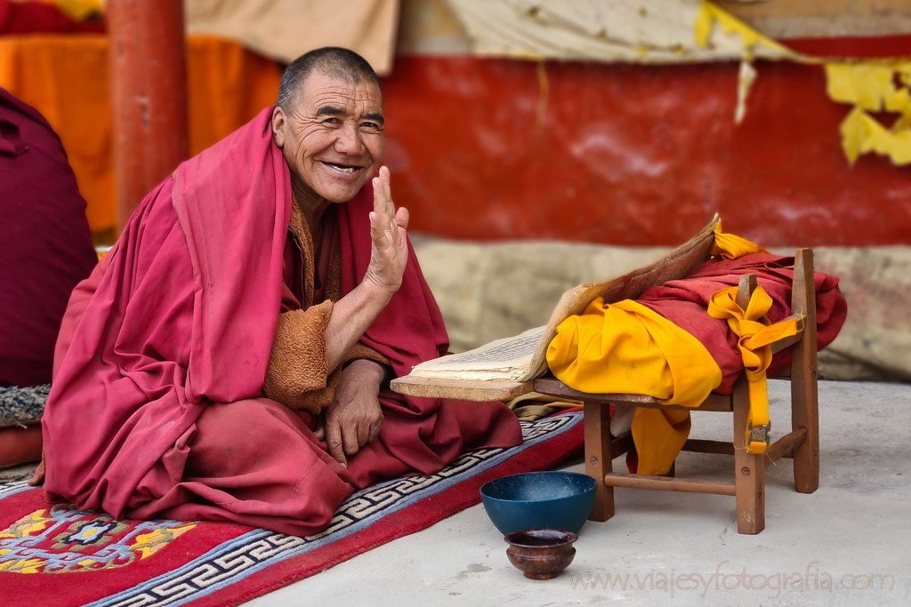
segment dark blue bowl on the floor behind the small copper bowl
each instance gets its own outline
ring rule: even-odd
[[[578,533],[595,503],[595,480],[558,470],[513,474],[485,483],[481,501],[504,535],[530,529]]]

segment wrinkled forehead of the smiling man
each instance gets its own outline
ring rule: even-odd
[[[335,77],[314,72],[303,80],[297,95],[298,109],[313,115],[323,106],[334,106],[347,112],[382,113],[380,87],[368,78]]]

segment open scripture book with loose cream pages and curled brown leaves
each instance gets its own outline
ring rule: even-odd
[[[439,386],[441,382],[523,384],[545,375],[548,372],[548,344],[557,335],[557,327],[563,320],[581,314],[595,298],[601,297],[605,301],[635,299],[647,288],[686,276],[692,268],[711,257],[719,224],[716,215],[686,243],[644,268],[570,288],[559,298],[548,324],[528,329],[515,337],[496,339],[476,349],[422,362],[408,376],[395,379],[393,389],[415,393],[424,384]],[[415,396],[421,394],[415,393]]]

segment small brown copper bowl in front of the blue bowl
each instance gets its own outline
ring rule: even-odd
[[[569,566],[576,556],[572,531],[531,529],[514,531],[504,540],[509,544],[507,558],[529,580],[550,580]]]

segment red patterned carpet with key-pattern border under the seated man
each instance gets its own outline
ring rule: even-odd
[[[475,450],[429,476],[354,493],[330,527],[298,538],[210,521],[116,521],[49,507],[0,483],[0,588],[20,604],[237,605],[421,531],[480,501],[491,479],[548,470],[582,448],[582,413],[522,422],[513,449]]]

